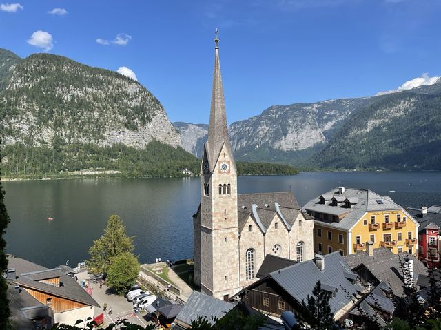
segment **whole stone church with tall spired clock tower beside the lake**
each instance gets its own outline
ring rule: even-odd
[[[216,37],[208,139],[201,163],[201,204],[193,216],[194,282],[228,300],[256,281],[267,254],[297,262],[314,257],[314,218],[291,192],[237,194]]]

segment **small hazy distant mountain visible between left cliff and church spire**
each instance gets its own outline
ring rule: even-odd
[[[207,141],[208,125],[207,124],[189,124],[182,121],[173,123],[174,128],[181,135],[182,147],[190,154],[201,158],[202,148]]]

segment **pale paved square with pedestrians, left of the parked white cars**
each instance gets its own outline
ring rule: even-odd
[[[88,286],[92,288],[92,298],[101,305],[101,308],[94,307],[94,316],[104,313],[105,325],[114,323],[118,318],[125,318],[129,322],[142,325],[143,327],[147,324],[152,324],[152,322],[147,322],[143,318],[147,313],[135,314],[132,302],[127,301],[123,296],[117,296],[111,293],[109,288],[105,285],[100,289],[99,283],[92,282],[91,275],[88,275],[86,271],[77,274],[77,276],[79,283],[81,283],[81,280],[88,281]],[[103,311],[104,303],[107,304],[106,311]],[[109,313],[110,308],[112,308],[112,313]]]

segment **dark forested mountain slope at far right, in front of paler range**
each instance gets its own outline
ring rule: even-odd
[[[441,169],[441,79],[356,112],[311,163],[334,169]]]

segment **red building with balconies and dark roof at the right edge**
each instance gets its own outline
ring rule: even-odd
[[[407,212],[420,223],[418,241],[409,243],[418,246],[418,258],[422,262],[440,267],[441,207],[409,207]]]

